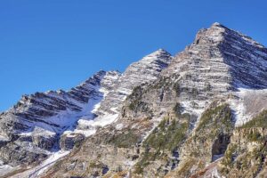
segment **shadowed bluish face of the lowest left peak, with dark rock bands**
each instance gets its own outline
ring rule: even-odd
[[[109,84],[118,77],[116,71],[100,71],[69,92],[60,90],[24,95],[12,109],[1,115],[1,132],[19,134],[31,132],[38,126],[60,133],[73,125],[79,116],[93,118],[93,107],[104,95],[101,90],[109,92],[112,88]]]

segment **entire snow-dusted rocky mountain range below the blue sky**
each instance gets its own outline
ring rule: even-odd
[[[172,56],[25,95],[0,116],[4,177],[266,177],[267,49],[219,23]]]

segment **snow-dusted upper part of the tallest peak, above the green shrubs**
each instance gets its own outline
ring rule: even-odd
[[[230,28],[214,23],[198,31],[163,74],[179,75],[185,112],[200,115],[211,101],[239,88],[267,88],[267,49]],[[192,94],[197,96],[192,98]]]

